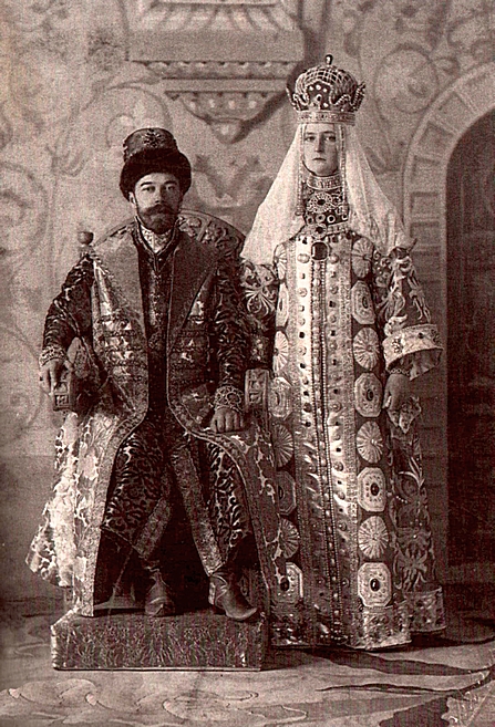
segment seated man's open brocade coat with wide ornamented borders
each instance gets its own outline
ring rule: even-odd
[[[83,615],[93,614],[101,526],[115,456],[148,411],[148,342],[137,235],[133,221],[87,253],[92,284],[81,294],[91,301],[91,330],[79,331],[76,312],[68,320],[73,336],[83,340],[86,365],[90,360],[87,380],[97,380],[100,390],[86,414],[65,416],[56,439],[53,495],[28,555],[32,571],[56,585],[72,588],[73,607]],[[245,488],[266,591],[272,595],[283,585],[285,560],[269,442],[254,422],[245,430],[228,435],[208,428],[216,387],[243,383],[244,370],[233,368],[233,362],[238,361],[239,308],[231,281],[221,272],[225,264],[220,255],[182,230],[178,236],[172,253],[165,341],[168,406],[186,438],[214,445],[220,459],[226,456],[234,464]],[[63,346],[66,344],[64,341]],[[209,574],[223,563],[199,472],[192,457],[179,457],[174,470]],[[156,508],[141,537],[144,550],[156,544],[153,538],[159,517]]]

